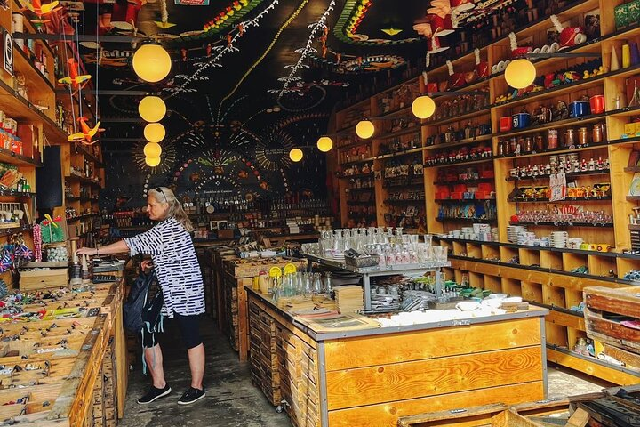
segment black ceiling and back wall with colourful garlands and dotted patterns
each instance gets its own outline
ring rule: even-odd
[[[467,52],[469,40],[480,42],[469,32],[479,34],[489,17],[527,3],[91,0],[60,4],[62,8],[51,14],[55,19],[42,29],[76,44],[93,77],[92,89],[87,90],[98,91],[106,129],[103,151],[111,159],[110,196],[137,191],[144,197],[144,188],[165,184],[185,193],[223,191],[254,198],[292,191],[324,195],[326,155],[315,145],[327,133],[338,102],[418,75],[425,67],[426,52],[448,51],[441,55],[444,59]],[[141,81],[131,65],[136,49],[149,42],[163,44],[172,58],[170,75],[156,84]],[[161,96],[168,108],[162,163],[155,167],[149,167],[142,154],[145,123],[137,112],[140,93]],[[303,149],[298,163],[288,156],[292,148]]]

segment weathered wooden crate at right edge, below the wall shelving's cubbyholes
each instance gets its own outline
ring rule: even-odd
[[[587,287],[584,299],[590,338],[640,354],[640,330],[620,324],[620,319],[640,319],[640,288]]]

